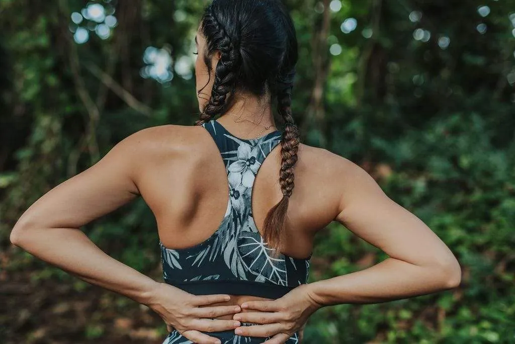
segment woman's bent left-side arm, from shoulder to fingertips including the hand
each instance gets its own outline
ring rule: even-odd
[[[158,283],[110,257],[80,230],[139,195],[137,182],[156,156],[159,130],[152,127],[128,136],[96,164],[47,192],[15,223],[10,240],[84,281],[149,306],[167,324],[186,331],[185,337],[214,343],[215,338],[188,330],[234,329],[234,321],[201,319],[234,314],[235,306],[201,307],[228,295],[194,296]]]

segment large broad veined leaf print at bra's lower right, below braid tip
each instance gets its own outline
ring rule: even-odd
[[[287,285],[284,255],[270,256],[273,249],[266,246],[259,232],[242,231],[238,238],[238,251],[250,272],[272,283]]]

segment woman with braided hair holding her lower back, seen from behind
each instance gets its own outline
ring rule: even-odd
[[[431,229],[354,163],[299,143],[295,35],[278,0],[215,0],[196,35],[196,126],[128,136],[32,204],[11,242],[148,305],[173,330],[165,343],[295,343],[320,307],[456,287],[459,264]],[[79,230],[139,195],[157,219],[166,283]],[[389,258],[307,284],[314,236],[333,220]]]

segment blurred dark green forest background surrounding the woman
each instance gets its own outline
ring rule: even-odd
[[[447,243],[461,286],[308,322],[305,342],[515,342],[515,1],[285,0],[306,144],[363,166]],[[207,3],[0,0],[0,342],[161,343],[148,308],[10,245],[29,205],[131,133],[193,124],[193,39]],[[160,280],[140,198],[83,229]],[[335,223],[310,280],[366,268],[379,249]],[[381,288],[380,285],[377,288]]]

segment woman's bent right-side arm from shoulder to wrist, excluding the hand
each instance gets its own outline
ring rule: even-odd
[[[461,268],[442,240],[385,195],[361,167],[344,164],[336,220],[389,257],[368,269],[311,283],[311,296],[322,305],[378,303],[457,287]]]

